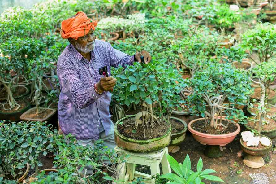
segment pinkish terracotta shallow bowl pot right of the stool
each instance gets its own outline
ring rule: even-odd
[[[218,119],[220,119],[220,117],[218,117]],[[239,134],[239,132],[240,132],[240,126],[239,126],[239,124],[236,123],[236,126],[238,127],[238,129],[235,132],[232,132],[229,134],[214,135],[214,134],[201,133],[201,132],[198,132],[198,131],[192,129],[192,127],[191,127],[191,125],[194,122],[200,121],[200,120],[205,120],[205,118],[198,118],[198,119],[192,120],[188,124],[188,130],[192,133],[192,136],[203,145],[208,144],[208,145],[225,146],[226,144],[229,144],[230,142],[232,142],[234,140],[234,138],[236,137],[236,135]],[[224,118],[222,118],[222,120],[229,121]]]

